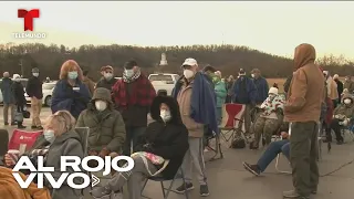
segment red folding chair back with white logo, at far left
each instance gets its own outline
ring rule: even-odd
[[[9,143],[9,149],[20,150],[20,154],[32,148],[38,136],[42,135],[43,130],[27,132],[21,129],[14,129]]]

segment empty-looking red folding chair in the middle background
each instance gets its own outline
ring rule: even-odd
[[[220,137],[228,144],[230,139],[235,137],[236,134],[241,134],[243,138],[244,136],[244,125],[241,119],[246,109],[246,105],[243,104],[225,104],[222,107],[225,111],[222,112],[222,121],[219,127]],[[229,145],[230,147],[231,145]]]

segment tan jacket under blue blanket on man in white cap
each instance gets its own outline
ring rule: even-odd
[[[191,91],[192,82],[188,86],[183,85],[177,95],[181,121],[189,132],[189,137],[204,137],[204,125],[190,117]]]

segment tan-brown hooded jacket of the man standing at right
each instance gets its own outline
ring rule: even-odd
[[[284,105],[287,122],[319,122],[324,102],[324,76],[314,64],[315,50],[310,44],[295,49],[295,73]]]

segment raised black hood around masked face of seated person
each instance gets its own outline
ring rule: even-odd
[[[162,121],[160,114],[160,105],[166,104],[169,107],[169,112],[171,115],[171,119],[168,123],[173,124],[183,124],[179,113],[179,106],[175,98],[170,96],[157,96],[154,98],[152,107],[150,107],[150,116],[154,121]]]

